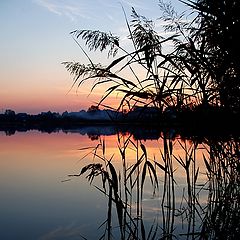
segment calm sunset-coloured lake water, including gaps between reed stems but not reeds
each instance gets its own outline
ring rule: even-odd
[[[111,163],[120,171],[121,146],[117,139],[116,135],[109,134],[102,137],[101,141],[102,143],[104,141],[104,157],[112,159]],[[132,144],[136,144],[135,146],[139,144],[139,152],[136,152],[133,145],[129,145],[126,150],[129,167],[136,163],[136,154],[145,156],[143,145],[147,149],[149,161],[158,161],[164,166],[164,142],[161,139],[135,141],[131,138],[131,141]],[[84,176],[69,176],[78,174],[82,167],[89,163],[102,161],[101,157],[96,156],[93,160],[93,155],[87,154],[91,148],[86,147],[96,147],[98,144],[99,139],[96,136],[91,136],[90,139],[88,135],[79,133],[48,134],[29,131],[6,136],[1,132],[0,239],[82,239],[82,236],[86,239],[99,239],[104,232],[99,226],[106,220],[108,211],[108,198],[94,187],[95,184],[98,187],[102,186],[101,179],[96,178],[90,185]],[[179,139],[173,141],[175,157],[183,161],[187,161],[189,156],[194,159],[194,168],[191,165],[190,172],[191,176],[197,177],[195,181],[190,176],[190,180],[197,182],[194,194],[198,196],[199,203],[197,206],[199,214],[196,214],[196,222],[193,224],[195,228],[201,225],[201,221],[198,222],[201,218],[201,208],[206,206],[208,199],[208,191],[204,189],[207,175],[203,159],[207,150],[204,145],[199,145],[195,151],[193,143],[189,141]],[[174,208],[180,209],[175,211],[176,218],[172,224],[174,233],[181,236],[179,239],[187,239],[184,236],[189,227],[189,222],[184,222],[184,219],[188,218],[186,171],[179,161],[174,158],[172,161],[172,171],[175,174]],[[161,196],[166,184],[160,185],[153,194],[151,177],[155,176],[150,175],[150,172],[146,174],[141,205],[146,231],[151,229],[151,223],[155,221],[160,225],[166,225],[166,217],[163,218],[165,210],[162,211],[162,208],[170,209],[170,206],[166,206],[167,201],[173,201],[169,185],[166,203],[161,205]],[[157,176],[159,182],[163,183],[166,178],[164,171],[160,169]],[[133,198],[133,210],[136,208],[136,201]],[[117,226],[116,219],[113,224]]]

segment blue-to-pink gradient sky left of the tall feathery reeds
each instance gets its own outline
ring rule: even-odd
[[[152,19],[160,16],[158,0],[1,0],[0,112],[78,111],[100,99],[101,89],[87,97],[89,86],[69,92],[72,77],[61,62],[87,63],[73,30],[111,31],[124,39],[120,3],[128,16],[132,6]],[[97,52],[90,56],[101,61]]]

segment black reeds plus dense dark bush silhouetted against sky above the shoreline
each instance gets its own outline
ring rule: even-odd
[[[160,18],[165,21],[168,37],[159,34],[154,21],[134,8],[129,21],[123,9],[132,51],[121,47],[121,39],[112,33],[71,32],[89,61],[87,65],[63,63],[74,77],[73,86],[94,80],[93,91],[106,84],[99,105],[109,95],[121,92],[118,109],[145,105],[163,111],[168,107],[179,110],[199,105],[207,109],[211,105],[239,112],[239,2],[184,3],[191,11],[190,20],[189,14],[178,14],[170,3],[159,1]],[[107,66],[94,63],[80,39],[90,51],[108,50],[108,60],[113,60]]]

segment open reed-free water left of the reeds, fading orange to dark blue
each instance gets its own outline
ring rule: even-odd
[[[79,167],[73,134],[0,135],[0,239],[95,239],[104,220],[102,194],[80,179],[62,182]]]

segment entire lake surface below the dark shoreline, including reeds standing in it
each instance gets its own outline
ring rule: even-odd
[[[112,131],[1,134],[0,239],[238,236],[239,139]]]

